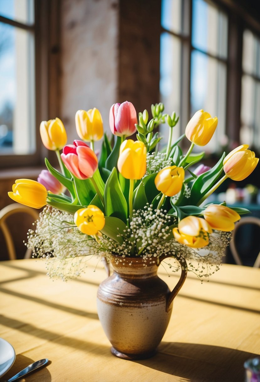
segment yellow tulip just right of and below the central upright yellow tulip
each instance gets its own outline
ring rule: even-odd
[[[168,166],[159,171],[154,183],[157,190],[162,191],[164,195],[173,196],[181,191],[185,176],[182,167]]]

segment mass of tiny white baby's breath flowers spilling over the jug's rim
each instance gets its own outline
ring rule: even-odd
[[[154,210],[147,205],[143,210],[134,211],[132,221],[125,227],[123,235],[118,234],[121,236],[120,241],[123,238],[122,244],[105,235],[96,241],[77,229],[72,215],[45,207],[37,221],[36,230],[29,230],[26,245],[32,248],[33,257],[47,258],[50,277],[63,280],[84,272],[89,256],[94,255],[100,259],[119,255],[119,261],[126,256],[140,256],[144,266],[157,262],[161,256],[170,256],[177,260],[176,265],[169,264],[173,272],[180,269],[185,259],[188,270],[199,278],[208,277],[218,270],[231,233],[214,231],[207,247],[193,249],[174,239],[172,227],[176,225],[177,221],[166,211]]]

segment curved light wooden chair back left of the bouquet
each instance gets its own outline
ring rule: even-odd
[[[34,218],[34,220],[39,219],[39,213],[37,211],[35,211],[33,208],[23,206],[22,204],[19,204],[19,203],[10,204],[9,206],[6,206],[2,210],[0,210],[0,228],[2,229],[3,236],[6,241],[6,247],[8,250],[8,256],[10,260],[15,260],[17,257],[15,253],[15,248],[14,248],[14,241],[13,241],[10,229],[8,228],[6,224],[6,219],[10,215],[21,213],[21,212],[30,215],[31,217]],[[32,254],[32,250],[30,248],[27,248],[24,259],[29,259],[31,254]]]

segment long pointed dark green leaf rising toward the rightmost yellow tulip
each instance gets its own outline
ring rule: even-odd
[[[191,196],[186,199],[185,204],[196,205],[201,198],[216,184],[218,178],[223,170],[223,159],[225,158],[225,152],[220,160],[209,171],[199,175],[194,180],[191,187]]]

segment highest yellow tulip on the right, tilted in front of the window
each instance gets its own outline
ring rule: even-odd
[[[186,137],[197,146],[205,146],[212,138],[217,124],[217,117],[212,118],[209,113],[199,110],[186,126]]]

